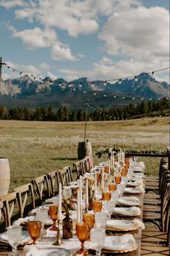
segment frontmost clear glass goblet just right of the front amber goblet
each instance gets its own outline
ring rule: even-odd
[[[105,229],[102,229],[102,228],[91,229],[90,239],[94,249],[97,252],[96,255],[100,256],[101,250],[104,244],[104,239],[105,239]]]

